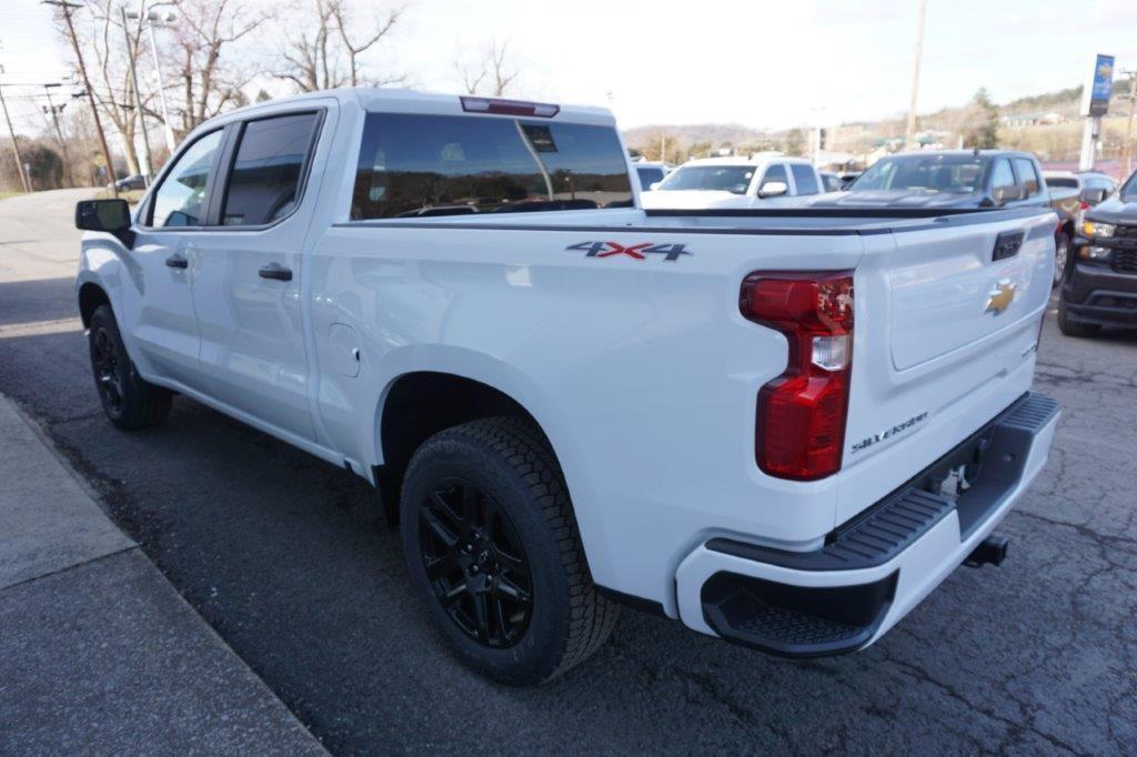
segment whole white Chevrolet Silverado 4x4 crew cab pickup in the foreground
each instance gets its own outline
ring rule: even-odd
[[[76,224],[110,421],[180,393],[372,482],[441,637],[514,684],[621,604],[861,649],[1002,559],[1057,418],[1052,211],[645,211],[601,109],[260,103]]]

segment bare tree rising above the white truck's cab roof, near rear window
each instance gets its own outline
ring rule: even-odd
[[[337,86],[370,84],[382,86],[404,81],[401,75],[379,76],[367,72],[362,56],[374,50],[391,34],[402,15],[397,8],[381,14],[372,23],[354,23],[345,0],[313,0],[313,31],[292,38],[283,53],[285,66],[275,76],[292,82],[301,92]],[[349,27],[366,26],[368,34],[352,41]]]

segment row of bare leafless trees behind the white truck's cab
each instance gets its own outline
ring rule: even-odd
[[[67,49],[75,50],[70,63],[80,84],[59,91],[50,111],[44,106],[38,135],[18,138],[35,189],[105,183],[111,175],[144,174],[148,165],[155,173],[202,122],[273,94],[415,84],[413,72],[390,55],[414,13],[408,6],[85,0],[81,7],[56,5],[52,13]],[[78,57],[90,90],[82,85]],[[508,94],[521,73],[507,41],[495,39],[460,50],[453,67],[455,88],[472,94]],[[19,185],[11,150],[0,152],[0,181]]]

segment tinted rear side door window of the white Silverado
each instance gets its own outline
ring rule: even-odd
[[[222,224],[260,226],[292,213],[319,115],[250,120],[241,132],[229,176]]]

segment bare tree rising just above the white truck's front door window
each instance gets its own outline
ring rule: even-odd
[[[173,0],[179,10],[175,40],[182,82],[182,133],[229,107],[244,105],[242,88],[254,73],[222,58],[222,49],[259,27],[265,14],[233,0]]]

